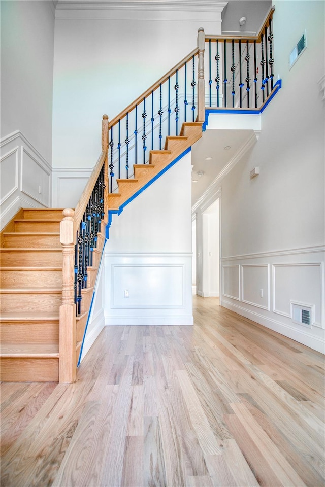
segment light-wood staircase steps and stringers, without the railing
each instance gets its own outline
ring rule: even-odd
[[[163,151],[150,151],[149,164],[134,165],[134,179],[118,180],[119,192],[106,193],[108,210],[117,211],[201,136],[201,122],[184,123],[179,136],[166,138]],[[21,209],[1,233],[1,381],[60,380],[62,218],[62,208]],[[97,248],[93,251],[93,266],[88,267],[87,288],[82,290],[81,313],[76,318],[73,333],[75,363],[78,362],[105,243],[104,232],[105,224],[98,234]]]

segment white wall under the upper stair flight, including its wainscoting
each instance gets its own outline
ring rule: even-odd
[[[188,153],[113,215],[104,255],[107,325],[193,323],[190,174]]]

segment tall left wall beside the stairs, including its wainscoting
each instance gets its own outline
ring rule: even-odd
[[[54,5],[2,1],[1,228],[51,204]]]

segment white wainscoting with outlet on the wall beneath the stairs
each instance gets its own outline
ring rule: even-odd
[[[107,325],[191,325],[191,253],[105,254]]]

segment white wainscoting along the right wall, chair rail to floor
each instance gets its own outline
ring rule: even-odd
[[[223,257],[220,304],[325,353],[324,261],[324,246]]]

